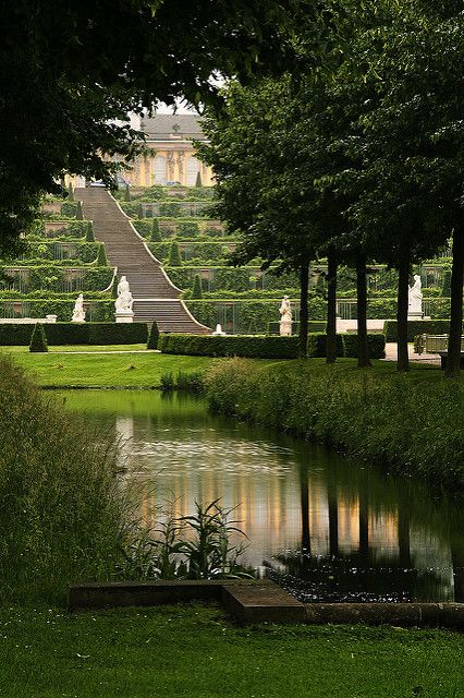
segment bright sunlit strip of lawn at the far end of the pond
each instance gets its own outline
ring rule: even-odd
[[[155,352],[57,354],[52,351],[17,351],[16,347],[4,349],[13,349],[4,353],[12,353],[15,363],[26,369],[40,386],[158,387],[162,374],[198,372],[213,361],[207,357],[172,357]]]

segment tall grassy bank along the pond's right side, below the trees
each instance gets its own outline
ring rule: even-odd
[[[394,364],[375,362],[359,371],[354,361],[317,359],[264,369],[232,359],[211,370],[208,396],[223,413],[341,447],[383,470],[464,488],[464,387],[439,370],[396,374]]]

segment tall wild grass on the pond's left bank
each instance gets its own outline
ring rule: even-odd
[[[114,448],[5,357],[0,440],[0,603],[61,603],[70,581],[110,579],[129,534]]]

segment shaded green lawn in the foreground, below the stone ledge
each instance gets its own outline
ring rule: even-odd
[[[462,635],[236,628],[217,607],[0,611],[9,698],[462,698]]]

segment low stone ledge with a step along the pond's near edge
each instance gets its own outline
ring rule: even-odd
[[[185,580],[71,585],[70,612],[217,601],[242,625],[307,623],[464,629],[464,603],[300,603],[268,580]]]

